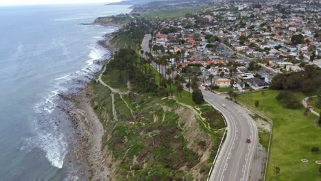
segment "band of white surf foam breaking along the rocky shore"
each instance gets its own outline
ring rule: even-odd
[[[51,165],[59,169],[62,168],[64,164],[64,156],[68,152],[68,144],[65,141],[64,133],[57,130],[58,127],[53,124],[53,119],[51,113],[56,109],[56,99],[58,94],[67,93],[67,90],[71,81],[87,77],[95,71],[99,71],[101,68],[99,65],[94,64],[95,60],[100,60],[104,58],[106,49],[100,47],[97,43],[88,47],[90,53],[88,54],[88,60],[86,60],[86,65],[80,70],[74,73],[69,73],[62,77],[58,77],[52,81],[51,90],[47,95],[43,96],[43,101],[36,104],[36,112],[40,116],[38,121],[34,121],[33,125],[34,132],[37,134],[36,138],[32,138],[32,142],[35,143],[35,147],[43,149],[46,158],[49,160]],[[89,80],[88,80],[89,81]],[[21,147],[25,149],[25,147]]]

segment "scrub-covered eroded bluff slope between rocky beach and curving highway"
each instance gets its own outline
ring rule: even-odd
[[[115,121],[111,91],[95,82],[88,88],[104,125],[110,180],[206,180],[219,139],[201,128],[197,112],[173,99],[113,93]]]

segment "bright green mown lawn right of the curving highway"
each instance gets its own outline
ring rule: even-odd
[[[320,160],[321,154],[311,153],[311,147],[321,147],[321,128],[316,124],[318,118],[311,113],[305,118],[302,106],[297,110],[285,109],[283,121],[283,105],[275,99],[278,93],[276,90],[267,90],[264,95],[252,93],[252,101],[250,94],[238,97],[239,101],[274,121],[266,180],[321,180],[320,165],[315,163]],[[295,95],[298,99],[305,97],[302,93]],[[256,100],[260,102],[259,108],[254,106]],[[301,162],[302,158],[307,158],[309,162]],[[281,169],[279,176],[274,173],[276,166]]]

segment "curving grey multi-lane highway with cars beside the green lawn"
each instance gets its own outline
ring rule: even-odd
[[[206,90],[202,90],[202,93],[209,104],[222,112],[228,125],[226,139],[209,180],[250,180],[252,160],[259,141],[254,121],[240,106],[225,99],[225,96]],[[246,138],[250,138],[251,142],[246,143]]]

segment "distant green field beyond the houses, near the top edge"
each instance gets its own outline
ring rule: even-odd
[[[146,19],[174,19],[180,16],[185,16],[192,12],[202,12],[205,7],[182,8],[176,10],[160,10],[154,12],[145,12],[141,14]]]

